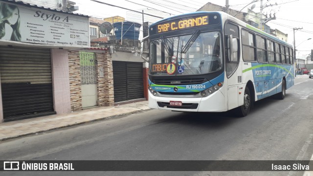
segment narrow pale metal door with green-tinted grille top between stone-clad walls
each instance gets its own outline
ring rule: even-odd
[[[97,60],[93,52],[79,52],[82,107],[97,105]]]

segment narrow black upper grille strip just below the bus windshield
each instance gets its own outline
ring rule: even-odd
[[[190,85],[190,84],[202,84],[206,82],[205,78],[190,78],[190,79],[155,79],[155,84],[160,85]]]

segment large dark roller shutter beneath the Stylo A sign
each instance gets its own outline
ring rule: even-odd
[[[3,117],[53,112],[50,49],[0,47]]]

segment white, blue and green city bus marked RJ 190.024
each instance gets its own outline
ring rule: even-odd
[[[147,40],[148,39],[148,40]],[[193,12],[149,26],[149,107],[246,116],[254,101],[294,85],[292,46],[224,12]]]

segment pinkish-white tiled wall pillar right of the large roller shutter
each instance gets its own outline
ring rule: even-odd
[[[53,105],[57,114],[71,111],[67,58],[67,50],[51,49]]]

